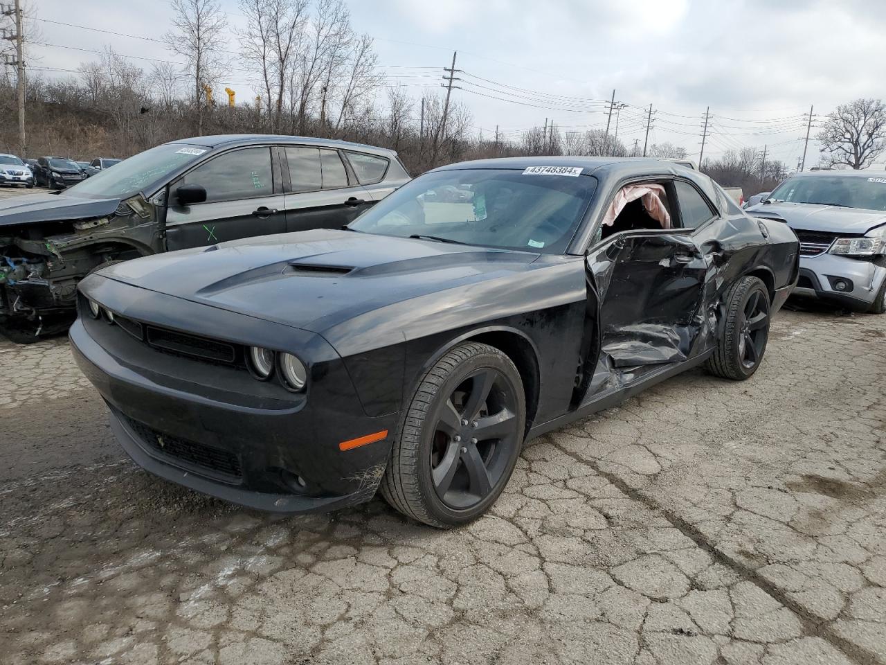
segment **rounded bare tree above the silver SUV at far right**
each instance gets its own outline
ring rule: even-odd
[[[829,163],[866,168],[886,148],[886,106],[880,99],[837,106],[817,138]]]

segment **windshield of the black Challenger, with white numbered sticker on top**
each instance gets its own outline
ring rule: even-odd
[[[349,224],[354,231],[563,254],[597,181],[511,169],[470,168],[420,176]]]

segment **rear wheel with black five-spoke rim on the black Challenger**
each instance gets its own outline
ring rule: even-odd
[[[743,277],[729,289],[723,304],[723,336],[705,369],[723,379],[750,379],[763,362],[769,340],[769,291],[760,279]]]

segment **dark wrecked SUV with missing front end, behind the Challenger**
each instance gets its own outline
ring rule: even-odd
[[[51,185],[71,186],[0,201],[0,332],[20,343],[70,325],[77,282],[92,270],[224,240],[338,229],[409,179],[391,150],[303,137],[183,139],[88,180],[72,161],[41,160]],[[65,164],[76,182],[63,180]]]

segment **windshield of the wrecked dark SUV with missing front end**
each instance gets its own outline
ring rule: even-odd
[[[208,152],[209,148],[196,145],[158,145],[120,161],[114,168],[103,168],[95,176],[68,188],[66,193],[126,199]]]

